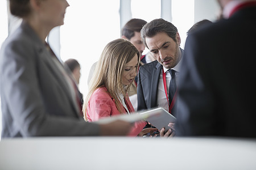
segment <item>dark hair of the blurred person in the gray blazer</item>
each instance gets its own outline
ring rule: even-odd
[[[23,18],[31,12],[30,0],[10,0],[11,14]]]

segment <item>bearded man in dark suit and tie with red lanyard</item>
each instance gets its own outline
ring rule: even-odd
[[[156,61],[139,69],[138,110],[162,107],[176,116],[176,81],[183,56],[177,28],[166,20],[155,19],[144,25],[141,37]]]

